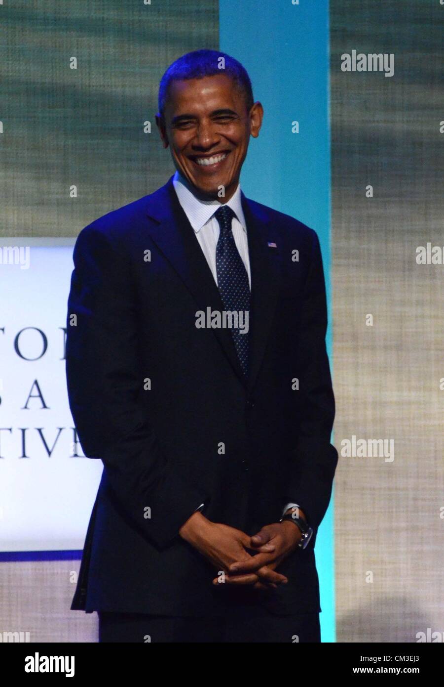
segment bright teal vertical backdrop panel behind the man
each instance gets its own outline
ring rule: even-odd
[[[220,49],[246,67],[264,124],[242,170],[246,196],[318,233],[323,252],[331,357],[328,0],[220,0]],[[335,641],[333,499],[318,532],[323,642]],[[303,594],[303,590],[301,590]]]

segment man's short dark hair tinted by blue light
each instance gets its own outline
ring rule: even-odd
[[[224,67],[221,68],[221,60],[224,58]],[[246,108],[249,112],[253,107],[253,89],[248,73],[235,58],[218,50],[194,50],[179,57],[168,67],[159,84],[159,114],[165,115],[165,101],[168,89],[172,81],[187,79],[200,79],[204,76],[216,76],[226,74],[235,83],[235,87],[244,95]]]

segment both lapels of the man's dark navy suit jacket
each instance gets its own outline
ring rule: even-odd
[[[148,231],[154,243],[176,270],[194,296],[198,310],[223,311],[224,305],[211,269],[202,253],[187,215],[180,205],[172,177],[149,197],[146,213],[158,222]],[[267,216],[248,203],[242,193],[242,210],[246,219],[248,254],[251,271],[250,307],[250,374],[245,381],[229,329],[213,329],[224,354],[246,390],[251,391],[257,378],[270,335],[274,308],[279,292],[279,249],[268,247],[276,242]]]

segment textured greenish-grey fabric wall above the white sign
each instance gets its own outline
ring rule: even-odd
[[[217,0],[16,0],[1,21],[0,236],[77,236],[165,183],[159,80],[218,46]]]

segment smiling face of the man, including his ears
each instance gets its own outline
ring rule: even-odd
[[[180,65],[172,65],[170,70],[161,82],[160,114],[156,117],[163,145],[170,146],[178,174],[198,199],[220,201],[223,188],[226,203],[239,185],[250,136],[259,135],[262,106],[253,103],[253,95],[245,93],[242,81],[234,81],[224,73],[226,69],[212,76],[180,80],[172,80]]]

